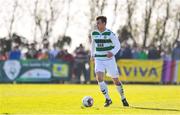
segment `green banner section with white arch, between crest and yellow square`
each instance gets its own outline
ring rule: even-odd
[[[50,81],[51,63],[39,60],[21,60],[21,73],[16,79],[18,82],[26,81]]]

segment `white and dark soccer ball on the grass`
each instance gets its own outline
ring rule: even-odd
[[[91,107],[91,106],[93,106],[93,103],[94,103],[94,100],[93,100],[93,98],[91,96],[85,96],[82,99],[82,104],[85,107]]]

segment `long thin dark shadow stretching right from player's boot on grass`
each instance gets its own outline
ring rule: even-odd
[[[144,109],[144,110],[156,110],[156,111],[180,111],[179,109],[164,109],[164,108],[151,108],[151,107],[138,107],[138,106],[129,106],[133,109]]]

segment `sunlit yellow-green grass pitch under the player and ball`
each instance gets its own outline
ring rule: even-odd
[[[113,104],[105,108],[98,85],[1,84],[0,114],[180,114],[180,86],[124,85],[130,107],[123,107],[114,85]],[[81,99],[94,98],[90,108]]]

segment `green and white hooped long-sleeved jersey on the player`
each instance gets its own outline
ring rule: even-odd
[[[95,59],[109,59],[106,56],[107,52],[112,52],[115,55],[120,49],[118,38],[109,29],[104,32],[93,31],[91,39],[91,56],[95,57]]]

